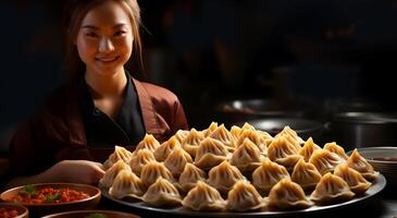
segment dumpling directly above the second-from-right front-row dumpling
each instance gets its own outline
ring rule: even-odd
[[[339,156],[325,149],[315,150],[309,162],[314,165],[321,174],[334,171],[334,168],[344,162]]]

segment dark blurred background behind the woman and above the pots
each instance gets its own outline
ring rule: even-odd
[[[62,2],[0,3],[0,148],[62,84]],[[190,126],[236,98],[364,98],[396,108],[397,1],[141,0],[149,81],[176,93]],[[321,108],[321,107],[320,107]]]

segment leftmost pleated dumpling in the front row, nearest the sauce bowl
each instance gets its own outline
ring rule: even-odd
[[[139,197],[144,195],[146,189],[140,179],[128,170],[119,172],[113,181],[113,185],[109,190],[109,194],[115,198],[123,198],[126,196]]]

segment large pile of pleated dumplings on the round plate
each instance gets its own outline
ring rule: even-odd
[[[289,126],[274,137],[246,123],[213,122],[160,144],[147,134],[134,152],[115,146],[100,186],[158,207],[247,211],[303,209],[362,195],[379,172],[355,150],[323,148]]]

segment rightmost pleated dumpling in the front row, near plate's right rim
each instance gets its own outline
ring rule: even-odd
[[[334,174],[345,180],[356,194],[363,194],[371,186],[371,182],[367,181],[357,170],[349,168],[347,164],[336,166]]]

